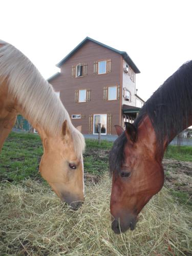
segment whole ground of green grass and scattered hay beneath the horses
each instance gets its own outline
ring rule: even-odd
[[[0,255],[191,255],[192,151],[169,146],[165,185],[134,231],[111,230],[111,142],[86,140],[86,201],[73,212],[38,174],[38,135],[11,133],[0,155]]]

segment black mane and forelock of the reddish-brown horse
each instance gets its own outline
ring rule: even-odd
[[[170,142],[172,134],[178,134],[190,125],[188,117],[192,116],[192,60],[184,63],[144,103],[134,122],[136,128],[146,115],[152,122],[160,150],[165,138]],[[123,133],[114,142],[110,153],[111,173],[118,172],[121,167],[126,141]]]

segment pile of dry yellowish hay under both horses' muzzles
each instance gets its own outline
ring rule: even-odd
[[[191,255],[191,212],[165,188],[140,214],[134,231],[111,230],[108,176],[87,186],[78,211],[62,205],[49,186],[1,183],[0,254]]]

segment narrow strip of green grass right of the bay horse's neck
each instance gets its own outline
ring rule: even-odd
[[[165,158],[176,159],[179,161],[192,161],[192,146],[169,145],[164,155]]]

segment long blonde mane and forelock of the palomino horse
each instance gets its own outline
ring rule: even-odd
[[[63,121],[67,120],[79,157],[84,150],[84,138],[73,126],[51,84],[22,52],[2,40],[0,45],[0,77],[8,78],[9,92],[22,105],[29,121],[38,123],[49,134],[58,135]]]

